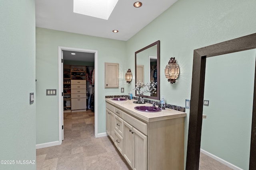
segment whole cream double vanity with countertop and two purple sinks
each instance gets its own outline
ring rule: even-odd
[[[106,132],[133,170],[184,169],[184,117],[136,100],[106,98]]]

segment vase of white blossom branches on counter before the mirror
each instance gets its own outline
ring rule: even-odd
[[[153,93],[156,93],[156,82],[148,82],[147,84],[144,84],[143,82],[137,82],[136,86],[133,90],[137,91],[137,93],[139,94],[139,98],[138,101],[136,101],[135,103],[142,103],[140,101],[140,96],[142,96],[145,93],[150,93],[150,95],[152,95]]]

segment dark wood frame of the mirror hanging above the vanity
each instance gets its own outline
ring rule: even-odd
[[[137,60],[136,60],[136,57],[137,57],[137,54],[140,53],[141,51],[144,51],[150,47],[153,47],[154,45],[157,45],[157,66],[156,66],[156,69],[157,69],[157,96],[145,96],[144,95],[144,98],[149,98],[149,99],[155,99],[155,100],[160,100],[160,41],[156,41],[146,47],[144,47],[143,49],[140,49],[139,51],[136,51],[135,52],[135,86],[136,86],[136,80],[137,80]],[[144,82],[145,83],[145,82]],[[137,92],[135,91],[135,96],[139,96],[137,94]]]

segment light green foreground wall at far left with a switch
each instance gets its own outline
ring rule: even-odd
[[[35,1],[0,0],[0,164],[4,170],[35,170],[36,160]]]

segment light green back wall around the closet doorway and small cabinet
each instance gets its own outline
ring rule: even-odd
[[[98,133],[106,132],[105,96],[126,88],[125,41],[92,37],[36,27],[36,144],[58,141],[58,46],[98,50]],[[119,63],[119,88],[104,88],[104,63]]]

